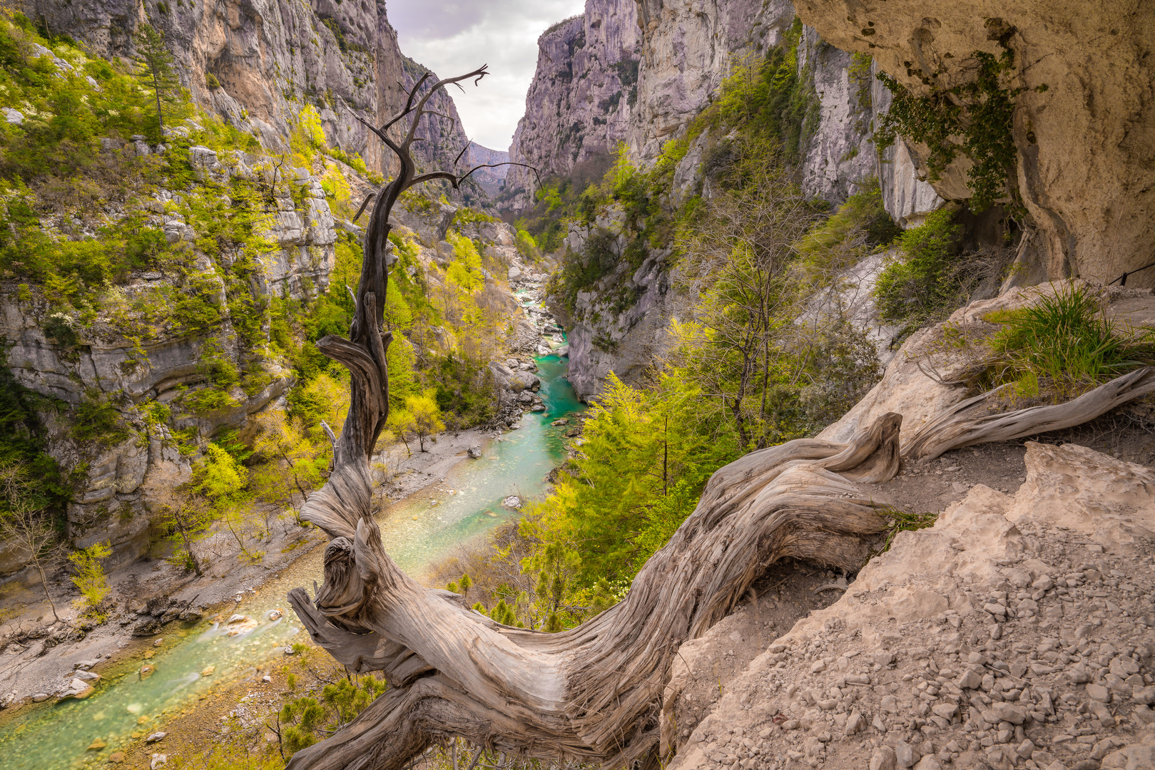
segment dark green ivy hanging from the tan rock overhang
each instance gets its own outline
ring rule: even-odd
[[[1014,52],[1009,48],[997,57],[983,51],[971,57],[978,63],[975,80],[946,89],[933,84],[938,73],[926,75],[908,68],[908,75],[922,76],[923,83],[931,87],[927,96],[915,96],[893,76],[879,73],[878,79],[894,98],[874,141],[879,149],[894,143],[896,135],[926,144],[931,179],[963,152],[974,162],[967,172],[973,193],[970,208],[982,211],[1011,192],[1007,185],[1014,179],[1019,157],[1012,124],[1022,89],[1009,85],[1015,77]]]

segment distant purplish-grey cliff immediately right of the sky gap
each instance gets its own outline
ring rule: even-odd
[[[638,32],[633,2],[624,0],[587,0],[584,14],[546,30],[509,159],[535,166],[543,179],[583,164],[604,171],[641,107]],[[506,204],[527,208],[535,184],[532,172],[512,166]]]

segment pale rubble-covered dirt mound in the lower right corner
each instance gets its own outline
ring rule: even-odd
[[[668,690],[670,767],[1155,767],[1155,472],[1074,444],[1023,462],[1013,494],[975,484],[899,533],[705,719]]]

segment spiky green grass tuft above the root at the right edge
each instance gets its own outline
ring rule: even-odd
[[[1003,324],[988,342],[988,376],[1013,383],[1020,397],[1058,402],[1155,365],[1155,329],[1108,317],[1103,299],[1086,286],[1040,292],[1027,307],[985,320]]]

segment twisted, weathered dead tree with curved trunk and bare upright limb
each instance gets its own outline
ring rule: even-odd
[[[808,559],[857,569],[862,536],[880,532],[882,507],[855,486],[899,466],[901,417],[886,414],[850,443],[806,439],[746,455],[718,470],[694,513],[638,574],[625,600],[559,634],[511,628],[429,590],[386,553],[372,515],[368,458],[388,416],[382,306],[393,204],[424,179],[409,148],[430,96],[482,77],[480,68],[438,81],[382,127],[401,159],[377,195],[349,338],[318,343],[351,373],[349,413],[334,443],[333,472],[301,508],[329,533],[325,583],[289,600],[312,638],[357,673],[383,672],[390,689],[331,738],[298,752],[291,770],[400,770],[434,742],[545,760],[653,763],[662,690],[679,645],[703,634],[774,561]],[[409,118],[403,139],[389,128]],[[459,182],[462,177],[453,177]]]

